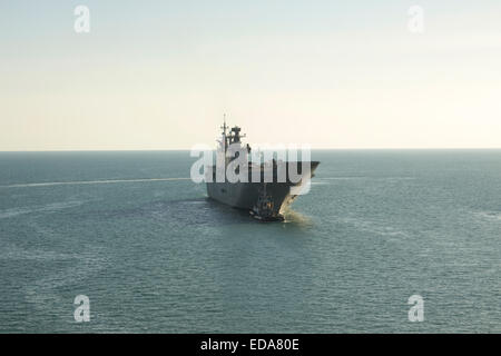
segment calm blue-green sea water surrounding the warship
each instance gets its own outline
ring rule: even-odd
[[[0,332],[501,332],[501,150],[313,159],[263,224],[186,151],[0,154]]]

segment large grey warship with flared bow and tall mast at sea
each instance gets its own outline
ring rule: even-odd
[[[313,172],[320,162],[284,161],[274,157],[268,161],[259,159],[258,162],[245,159],[247,172],[243,170],[242,174],[245,176],[248,174],[248,179],[230,181],[226,176],[228,166],[242,152],[250,156],[252,148],[248,144],[243,146],[242,138],[245,135],[240,135],[238,126],[229,128],[225,120],[222,129],[216,161],[219,159],[219,162],[223,162],[220,166],[223,166],[225,175],[223,179],[216,179],[217,164],[208,167],[206,171],[207,195],[230,207],[248,210],[254,218],[262,221],[283,221],[284,210],[302,194],[305,185],[310,185]],[[263,152],[259,152],[259,157],[264,157]],[[240,168],[239,166],[230,167],[236,172],[239,172]]]

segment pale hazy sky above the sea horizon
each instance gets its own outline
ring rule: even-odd
[[[0,0],[0,150],[214,145],[224,112],[256,144],[500,148],[501,1]]]

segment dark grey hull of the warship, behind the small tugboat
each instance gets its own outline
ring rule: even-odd
[[[266,184],[266,192],[273,199],[274,211],[276,214],[283,211],[297,197],[291,192],[291,187],[310,180],[317,166],[317,161],[312,162],[310,175],[302,177],[302,181],[298,184],[291,182],[288,177],[285,182]],[[276,177],[276,172],[274,177]],[[263,182],[207,182],[207,194],[212,199],[230,207],[252,210],[257,201],[262,187]]]

